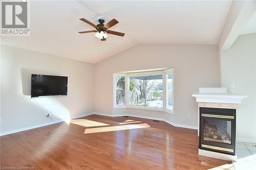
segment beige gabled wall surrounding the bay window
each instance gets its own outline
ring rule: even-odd
[[[174,67],[175,115],[148,110],[113,109],[113,72],[163,67]],[[219,67],[216,45],[136,45],[95,64],[95,111],[166,118],[176,124],[197,126],[197,103],[191,94],[197,92],[199,87],[218,87]],[[187,113],[190,113],[190,117],[187,117]]]

